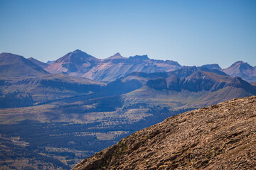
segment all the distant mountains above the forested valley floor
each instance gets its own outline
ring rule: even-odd
[[[134,90],[137,90],[135,98],[139,99],[140,93],[151,94],[145,92],[145,86],[150,91],[174,91],[161,94],[167,98],[190,94],[200,106],[255,94],[255,86],[235,77],[238,69],[253,68],[243,62],[236,62],[228,69],[220,69],[218,64],[187,67],[173,61],[150,60],[146,55],[125,58],[117,53],[99,60],[80,50],[69,52],[51,64],[11,53],[1,53],[0,60],[1,107],[31,106],[77,96],[130,96]],[[234,78],[228,75],[233,67]],[[253,77],[252,72],[247,73]],[[100,79],[113,81],[106,84]]]

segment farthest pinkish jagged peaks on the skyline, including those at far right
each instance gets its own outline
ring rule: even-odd
[[[49,64],[33,58],[29,58],[28,60],[31,60],[34,64],[53,74],[65,72],[70,76],[108,82],[125,77],[132,72],[171,72],[186,67],[171,60],[152,60],[147,55],[136,55],[128,58],[122,57],[119,52],[111,57],[100,60],[81,50],[69,52],[67,55]],[[201,67],[217,69],[231,77],[241,77],[250,83],[256,81],[256,67],[252,67],[246,62],[235,62],[226,69],[221,69],[218,64],[205,64]]]

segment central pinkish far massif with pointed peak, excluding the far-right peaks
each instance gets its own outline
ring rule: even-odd
[[[85,52],[75,50],[51,63],[46,70],[51,73],[65,72],[71,76],[96,81],[114,81],[132,72],[170,72],[180,68],[178,62],[150,60],[147,55],[126,58],[117,53],[99,60]]]

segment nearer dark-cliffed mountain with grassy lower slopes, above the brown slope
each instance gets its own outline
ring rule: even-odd
[[[174,72],[134,72],[107,84],[96,96],[121,95],[124,104],[175,104],[177,108],[201,108],[232,98],[256,94],[255,86],[218,70],[184,67]]]

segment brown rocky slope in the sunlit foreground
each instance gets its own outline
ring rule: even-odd
[[[255,169],[256,96],[174,115],[73,169]]]

